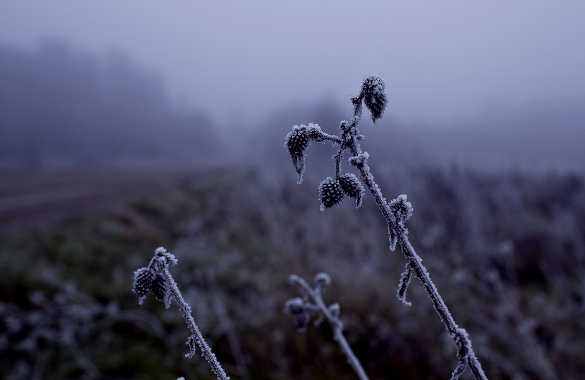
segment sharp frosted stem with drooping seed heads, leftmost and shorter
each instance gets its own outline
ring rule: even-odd
[[[149,293],[153,293],[157,300],[165,303],[166,308],[170,306],[171,299],[174,298],[179,305],[181,313],[187,322],[191,336],[187,339],[187,346],[190,352],[185,354],[186,357],[193,357],[197,346],[201,348],[201,356],[207,360],[211,370],[217,376],[218,380],[229,380],[229,377],[223,371],[221,364],[212,353],[211,348],[203,338],[199,327],[191,315],[191,306],[181,295],[177,283],[168,271],[170,265],[177,264],[177,259],[173,254],[168,253],[163,247],[157,248],[154,257],[150,260],[148,267],[143,267],[134,272],[134,286],[132,291],[138,295],[138,302],[142,304],[144,298]]]

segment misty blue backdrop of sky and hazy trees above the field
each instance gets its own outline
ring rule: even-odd
[[[2,171],[284,160],[290,127],[335,133],[370,72],[390,103],[364,148],[386,161],[585,163],[582,2],[1,8]]]

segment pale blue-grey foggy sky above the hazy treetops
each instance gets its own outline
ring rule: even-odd
[[[0,5],[0,42],[122,51],[223,121],[349,103],[379,72],[388,113],[432,121],[582,96],[583,20],[583,1],[20,0]]]

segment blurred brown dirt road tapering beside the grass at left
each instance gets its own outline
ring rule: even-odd
[[[173,188],[195,170],[0,175],[0,234]]]

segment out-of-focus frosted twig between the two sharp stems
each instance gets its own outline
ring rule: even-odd
[[[297,328],[300,331],[304,331],[307,328],[311,313],[317,317],[315,324],[320,324],[323,319],[326,319],[333,329],[333,339],[339,343],[349,365],[352,366],[360,380],[369,380],[362,364],[360,364],[352,348],[349,347],[345,336],[343,336],[343,323],[339,320],[339,304],[333,303],[327,307],[321,297],[321,294],[331,284],[329,275],[324,272],[316,274],[314,279],[315,288],[311,288],[305,279],[294,274],[288,277],[288,282],[298,285],[304,296],[304,298],[289,299],[284,307],[284,311],[289,313],[295,320]],[[309,299],[312,299],[314,303],[309,302]]]

